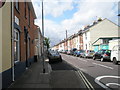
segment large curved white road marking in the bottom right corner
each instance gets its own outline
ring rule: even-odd
[[[101,87],[103,87],[103,88],[108,88],[107,87],[107,84],[106,84],[106,86],[104,85],[104,84],[102,84],[101,82],[100,82],[100,80],[101,79],[103,79],[103,78],[120,78],[119,76],[99,76],[99,77],[97,77],[97,78],[95,78],[95,82],[97,83],[97,84],[99,84]],[[115,83],[114,83],[115,84]],[[108,85],[109,85],[109,83],[108,83]],[[117,84],[116,84],[117,85]]]

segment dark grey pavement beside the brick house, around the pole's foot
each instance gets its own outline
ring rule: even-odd
[[[42,60],[33,63],[9,88],[50,88],[50,66],[45,62],[45,70],[43,73]]]

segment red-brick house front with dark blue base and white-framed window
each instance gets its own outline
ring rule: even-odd
[[[32,2],[14,2],[15,79],[34,62],[35,19]]]

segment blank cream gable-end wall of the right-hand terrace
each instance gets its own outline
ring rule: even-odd
[[[90,32],[90,41],[93,43],[100,37],[118,37],[118,26],[104,19],[97,25],[91,27],[88,32]]]

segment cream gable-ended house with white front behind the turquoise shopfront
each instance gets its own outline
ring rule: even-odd
[[[84,50],[109,49],[109,40],[118,38],[118,33],[118,25],[110,20],[97,21],[83,33]]]

